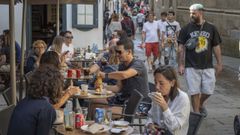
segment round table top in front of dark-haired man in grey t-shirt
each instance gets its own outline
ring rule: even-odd
[[[95,90],[89,90],[88,95],[73,95],[75,98],[80,98],[80,99],[104,99],[104,98],[109,98],[113,97],[115,93],[109,93],[109,94],[99,94],[95,93]]]

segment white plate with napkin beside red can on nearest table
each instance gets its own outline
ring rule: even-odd
[[[83,125],[81,126],[81,129],[91,134],[99,134],[99,133],[107,132],[108,130],[110,130],[110,127],[106,125],[101,125],[98,123],[93,123],[89,125]]]

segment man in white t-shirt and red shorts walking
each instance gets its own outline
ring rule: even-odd
[[[145,44],[149,72],[155,70],[155,61],[159,56],[160,31],[158,22],[154,21],[154,13],[149,13],[148,21],[144,23],[142,30],[142,46]],[[153,53],[153,61],[151,59]]]

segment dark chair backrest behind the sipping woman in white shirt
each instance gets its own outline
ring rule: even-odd
[[[187,135],[196,135],[202,123],[203,115],[200,113],[190,112],[189,127]]]

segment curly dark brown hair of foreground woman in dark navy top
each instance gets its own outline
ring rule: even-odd
[[[33,99],[48,97],[50,103],[55,104],[61,96],[63,81],[59,69],[51,64],[40,65],[31,76],[28,96]]]

